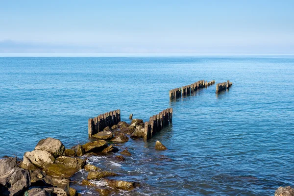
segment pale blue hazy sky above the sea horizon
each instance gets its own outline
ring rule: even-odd
[[[0,52],[294,54],[294,0],[0,0]]]

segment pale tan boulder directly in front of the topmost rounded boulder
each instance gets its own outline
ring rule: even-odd
[[[45,150],[33,150],[31,152],[25,152],[23,164],[26,163],[26,158],[39,168],[45,168],[47,164],[52,164],[55,162],[55,158],[52,154]],[[27,166],[29,167],[29,165]]]

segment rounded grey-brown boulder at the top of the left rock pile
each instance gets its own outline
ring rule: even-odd
[[[52,154],[55,158],[63,154],[65,147],[60,140],[54,138],[46,138],[39,141],[36,150],[45,150]]]

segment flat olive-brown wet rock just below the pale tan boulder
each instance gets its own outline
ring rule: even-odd
[[[44,169],[44,172],[46,172],[47,175],[51,175],[53,177],[65,177],[69,178],[73,176],[75,172],[78,171],[78,169],[69,168],[61,163],[53,163],[48,164]]]

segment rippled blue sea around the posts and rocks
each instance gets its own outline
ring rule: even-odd
[[[170,89],[202,79],[233,86],[170,101]],[[123,144],[125,162],[91,160],[142,183],[128,194],[273,196],[294,186],[294,56],[0,58],[0,156],[22,157],[46,137],[84,144],[88,119],[104,112],[121,109],[129,123],[168,107],[172,125]],[[169,150],[154,150],[156,140]]]

